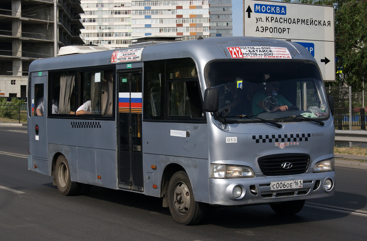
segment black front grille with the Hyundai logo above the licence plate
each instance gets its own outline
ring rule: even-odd
[[[260,169],[265,176],[302,174],[307,170],[309,162],[309,155],[299,153],[262,156],[258,159]]]

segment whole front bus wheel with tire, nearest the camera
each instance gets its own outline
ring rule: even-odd
[[[190,180],[185,171],[173,174],[168,183],[168,207],[173,219],[182,225],[193,225],[204,217],[204,203],[194,200]]]

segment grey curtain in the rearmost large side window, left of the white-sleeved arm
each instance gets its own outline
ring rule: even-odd
[[[70,113],[70,101],[75,83],[75,72],[60,74],[60,98],[58,114]]]

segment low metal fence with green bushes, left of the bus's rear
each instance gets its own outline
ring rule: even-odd
[[[27,121],[27,105],[0,105],[0,121],[1,122],[26,122]]]

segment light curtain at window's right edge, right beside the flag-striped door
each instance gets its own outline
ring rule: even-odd
[[[103,71],[102,115],[112,115],[113,101],[112,70]]]

